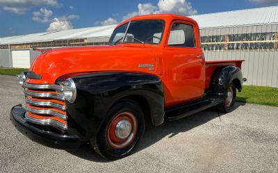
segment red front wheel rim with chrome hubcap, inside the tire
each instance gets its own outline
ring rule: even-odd
[[[123,149],[133,142],[138,129],[136,116],[130,112],[116,115],[107,129],[108,144],[115,149]]]

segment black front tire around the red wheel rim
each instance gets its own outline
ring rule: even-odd
[[[138,126],[136,126],[136,131],[134,131],[134,137],[128,137],[131,142],[127,142],[126,145],[123,145],[123,148],[115,148],[113,147],[113,145],[117,145],[117,143],[113,141],[111,142],[112,137],[109,137],[109,134],[111,134],[109,132],[111,130],[111,124],[114,124],[115,126],[115,121],[119,117],[122,118],[122,115],[120,115],[122,113],[130,113],[133,118],[135,117]],[[132,126],[131,128],[131,132],[133,132],[133,129],[134,126]],[[95,149],[95,151],[97,151],[98,154],[109,160],[117,160],[128,156],[134,151],[144,132],[145,118],[144,114],[142,113],[142,109],[135,101],[125,99],[119,101],[108,111],[106,120],[104,120],[99,133],[97,134],[97,136],[92,138],[90,142],[92,144],[92,147]]]

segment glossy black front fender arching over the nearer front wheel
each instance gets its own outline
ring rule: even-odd
[[[134,72],[94,72],[71,77],[76,84],[74,104],[66,101],[68,133],[89,140],[96,135],[106,113],[124,97],[144,97],[155,126],[164,121],[163,84],[158,76]]]

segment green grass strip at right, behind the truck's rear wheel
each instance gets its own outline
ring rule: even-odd
[[[278,88],[244,85],[242,92],[237,93],[236,101],[278,106]]]

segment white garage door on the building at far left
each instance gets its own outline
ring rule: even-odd
[[[29,68],[30,67],[30,51],[17,50],[12,51],[13,67]]]

